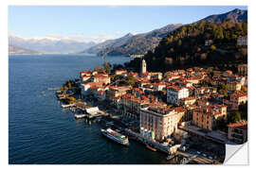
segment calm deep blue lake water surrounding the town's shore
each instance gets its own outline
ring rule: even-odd
[[[145,164],[168,163],[166,155],[131,141],[123,147],[101,136],[101,126],[75,120],[62,110],[54,91],[82,70],[123,57],[10,56],[9,163],[18,164]]]

